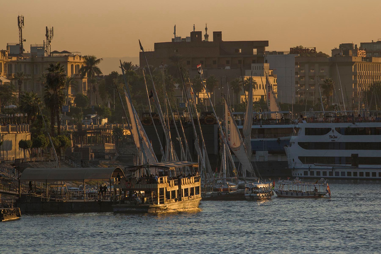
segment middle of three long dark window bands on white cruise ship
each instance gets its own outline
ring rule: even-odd
[[[381,150],[381,142],[298,142],[307,150]]]

